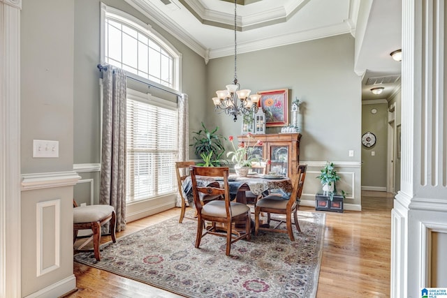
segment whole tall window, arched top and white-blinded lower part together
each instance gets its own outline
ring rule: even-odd
[[[178,93],[181,58],[148,24],[101,3],[101,63]],[[127,203],[145,204],[163,195],[175,198],[178,118],[173,101],[127,90]]]

